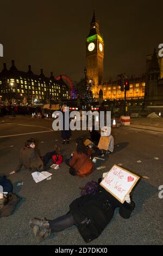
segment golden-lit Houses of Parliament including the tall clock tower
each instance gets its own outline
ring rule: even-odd
[[[99,30],[99,22],[93,13],[90,32],[86,38],[87,79],[92,81],[92,93],[96,99],[122,100],[124,91],[117,81],[103,81],[104,40]],[[146,105],[163,105],[163,57],[154,50],[146,57],[146,74],[128,77],[130,89],[127,100],[145,99]]]

